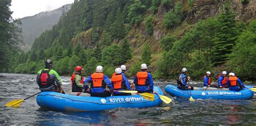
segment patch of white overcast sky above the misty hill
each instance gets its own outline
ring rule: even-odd
[[[1,1],[1,0],[0,0]],[[74,0],[12,0],[10,9],[12,18],[23,18],[36,15],[39,12],[60,8],[73,3]]]

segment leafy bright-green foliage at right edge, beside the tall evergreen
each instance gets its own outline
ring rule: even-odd
[[[255,80],[256,71],[256,20],[252,20],[247,29],[241,33],[232,53],[229,55],[227,66],[243,80]]]

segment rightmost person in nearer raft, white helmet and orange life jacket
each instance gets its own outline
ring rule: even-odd
[[[147,65],[140,65],[140,69],[142,69],[142,71],[138,72],[133,80],[136,86],[135,90],[137,90],[138,93],[155,93],[153,90],[154,83],[152,75],[147,72]]]

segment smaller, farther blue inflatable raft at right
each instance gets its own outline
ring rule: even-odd
[[[246,86],[247,88],[241,89],[239,92],[232,90],[205,90],[205,88],[198,88],[198,90],[191,90],[193,99],[250,99],[253,97],[254,92],[251,89],[252,86]],[[177,86],[167,85],[165,92],[177,97],[190,98],[190,90],[181,90]]]

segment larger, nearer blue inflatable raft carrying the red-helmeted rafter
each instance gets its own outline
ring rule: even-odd
[[[157,86],[154,86],[154,91],[159,95],[163,95],[163,92]],[[118,107],[156,107],[162,101],[157,94],[154,95],[154,101],[150,101],[144,99],[141,95],[91,97],[60,94],[56,92],[42,92],[37,95],[36,101],[40,107],[56,111],[97,111]]]

